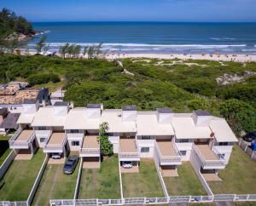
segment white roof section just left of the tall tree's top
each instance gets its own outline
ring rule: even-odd
[[[99,129],[100,118],[88,118],[86,108],[70,110],[64,122],[64,129]]]

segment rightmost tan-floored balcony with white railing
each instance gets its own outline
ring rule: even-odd
[[[211,150],[208,145],[192,145],[202,169],[224,169],[224,159]]]

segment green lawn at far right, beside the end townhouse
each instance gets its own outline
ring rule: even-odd
[[[225,169],[218,171],[223,181],[209,181],[215,194],[255,194],[256,162],[247,156],[239,146],[234,146],[230,162]]]

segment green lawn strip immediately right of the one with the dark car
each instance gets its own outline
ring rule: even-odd
[[[120,197],[118,157],[104,158],[101,169],[83,169],[79,199]]]

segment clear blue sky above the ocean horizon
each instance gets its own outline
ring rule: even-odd
[[[256,22],[256,0],[0,0],[36,21]]]

